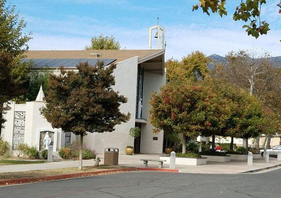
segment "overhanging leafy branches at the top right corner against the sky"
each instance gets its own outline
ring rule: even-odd
[[[210,15],[209,11],[218,13],[221,17],[227,15],[226,2],[227,0],[198,0],[199,3],[193,5],[192,11],[202,8],[203,13]],[[230,1],[230,0],[228,0]],[[234,14],[234,21],[250,22],[248,25],[243,25],[248,36],[251,35],[256,39],[260,35],[266,35],[269,29],[269,24],[265,21],[261,21],[261,7],[266,3],[266,0],[241,0],[238,2]],[[281,8],[281,5],[280,5]],[[278,12],[278,10],[277,10]],[[281,9],[279,10],[281,13]]]

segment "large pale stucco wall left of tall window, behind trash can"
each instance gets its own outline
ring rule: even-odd
[[[137,97],[137,73],[138,57],[133,57],[119,62],[113,72],[115,86],[113,89],[124,95],[128,102],[121,104],[120,110],[124,113],[131,113],[131,119],[123,124],[117,125],[115,131],[109,133],[88,133],[84,138],[87,146],[94,148],[98,153],[103,153],[104,148],[119,148],[119,153],[125,153],[125,148],[130,144],[129,130],[135,127],[136,97]],[[132,140],[132,145],[134,144]]]

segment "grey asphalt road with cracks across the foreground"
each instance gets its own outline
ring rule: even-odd
[[[127,172],[0,187],[0,198],[281,198],[281,169],[236,175]]]

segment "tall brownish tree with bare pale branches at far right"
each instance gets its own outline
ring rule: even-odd
[[[258,55],[256,52],[231,51],[227,54],[226,65],[217,64],[212,76],[234,84],[250,95],[255,95],[260,102],[281,113],[281,104],[277,102],[281,94],[281,73],[275,63],[270,61],[265,52]],[[256,138],[255,147],[259,147]]]

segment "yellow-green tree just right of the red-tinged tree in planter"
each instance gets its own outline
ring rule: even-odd
[[[234,138],[255,138],[260,134],[263,123],[261,102],[245,90],[222,79],[208,81],[217,95],[229,101],[231,114],[221,130],[221,136],[231,137],[230,151]]]

